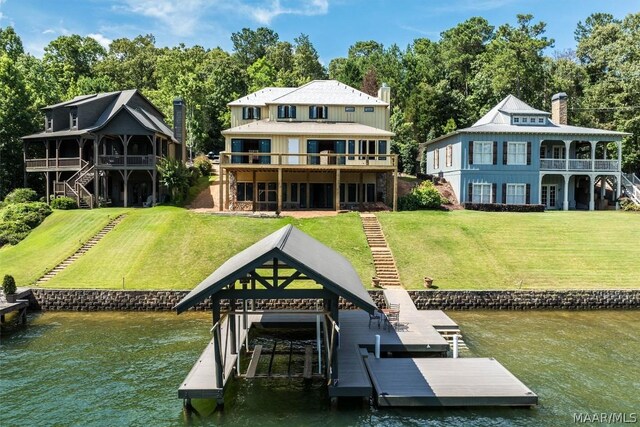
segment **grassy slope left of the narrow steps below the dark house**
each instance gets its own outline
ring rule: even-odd
[[[18,286],[38,279],[75,252],[121,209],[54,211],[16,246],[0,248],[0,276],[11,274]]]

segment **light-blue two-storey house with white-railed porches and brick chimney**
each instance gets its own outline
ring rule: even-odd
[[[565,93],[552,113],[509,95],[473,126],[426,142],[426,172],[449,181],[461,203],[607,209],[621,194],[626,135],[567,125]]]

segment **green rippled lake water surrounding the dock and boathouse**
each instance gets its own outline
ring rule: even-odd
[[[640,311],[448,313],[469,346],[540,397],[532,409],[337,409],[321,384],[234,381],[225,409],[187,419],[177,388],[210,315],[45,313],[3,329],[0,425],[559,426],[574,413],[640,412]],[[640,422],[640,421],[639,421]]]

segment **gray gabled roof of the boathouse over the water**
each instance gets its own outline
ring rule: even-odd
[[[351,263],[333,249],[292,225],[282,227],[229,258],[174,308],[178,313],[202,302],[247,273],[277,258],[370,313],[376,305]]]

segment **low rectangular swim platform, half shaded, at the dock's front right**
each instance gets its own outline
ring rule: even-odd
[[[379,406],[532,406],[538,396],[495,359],[365,358]]]

